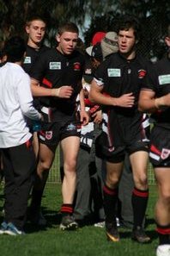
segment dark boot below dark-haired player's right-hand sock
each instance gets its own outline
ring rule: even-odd
[[[142,227],[137,227],[132,230],[131,239],[136,240],[141,244],[150,242],[149,236],[145,233]]]

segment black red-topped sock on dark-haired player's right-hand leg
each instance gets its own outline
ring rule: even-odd
[[[131,197],[133,207],[134,228],[142,227],[147,203],[149,199],[149,190],[138,190],[134,188]]]

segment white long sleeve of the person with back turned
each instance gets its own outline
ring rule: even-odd
[[[21,75],[20,81],[17,84],[17,91],[21,112],[23,115],[33,120],[39,120],[41,116],[39,112],[33,107],[30,78],[26,73]]]

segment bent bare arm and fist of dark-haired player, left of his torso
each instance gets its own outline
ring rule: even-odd
[[[132,93],[127,93],[121,97],[108,97],[102,93],[104,84],[100,84],[100,81],[93,79],[90,91],[89,99],[94,103],[101,105],[119,106],[125,108],[131,108],[134,105],[135,97]]]

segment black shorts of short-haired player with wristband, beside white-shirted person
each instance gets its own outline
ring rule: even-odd
[[[46,122],[39,131],[39,142],[57,146],[59,141],[70,136],[81,136],[81,122]]]

